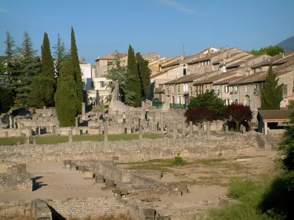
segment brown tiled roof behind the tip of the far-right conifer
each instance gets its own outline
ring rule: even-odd
[[[279,72],[276,72],[276,75],[277,75],[277,77],[279,77],[279,76],[284,75],[289,72],[291,72],[291,70],[279,71]],[[230,82],[229,85],[242,85],[242,84],[248,84],[248,83],[265,82],[267,75],[268,75],[268,71],[253,73],[249,76],[245,76],[245,77],[241,78],[240,80]]]

